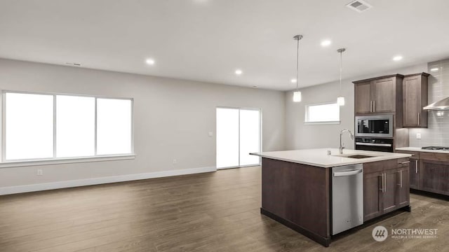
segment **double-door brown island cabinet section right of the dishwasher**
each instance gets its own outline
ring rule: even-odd
[[[363,221],[410,205],[409,161],[363,164]]]

